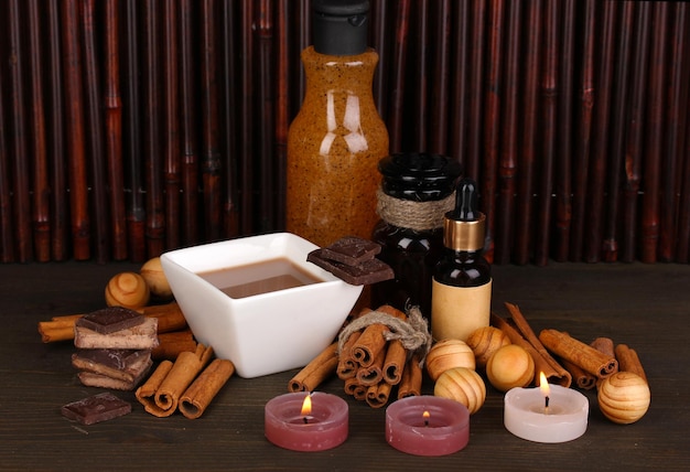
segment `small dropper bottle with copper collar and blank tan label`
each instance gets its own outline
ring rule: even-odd
[[[476,182],[462,179],[455,208],[443,221],[445,249],[431,289],[431,334],[436,341],[466,341],[474,330],[489,323],[492,271],[483,256],[486,217],[477,200]]]

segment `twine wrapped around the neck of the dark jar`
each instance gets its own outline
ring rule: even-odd
[[[376,196],[376,212],[382,221],[417,232],[443,227],[443,216],[455,205],[455,192],[442,200],[416,202],[387,195],[379,186]]]

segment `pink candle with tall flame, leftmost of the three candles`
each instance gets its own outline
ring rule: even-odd
[[[347,439],[347,403],[335,395],[299,391],[280,395],[266,404],[266,438],[281,448],[332,449]]]

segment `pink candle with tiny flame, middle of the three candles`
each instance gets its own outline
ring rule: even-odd
[[[449,398],[402,398],[386,409],[386,440],[409,454],[452,454],[467,446],[470,411]]]

